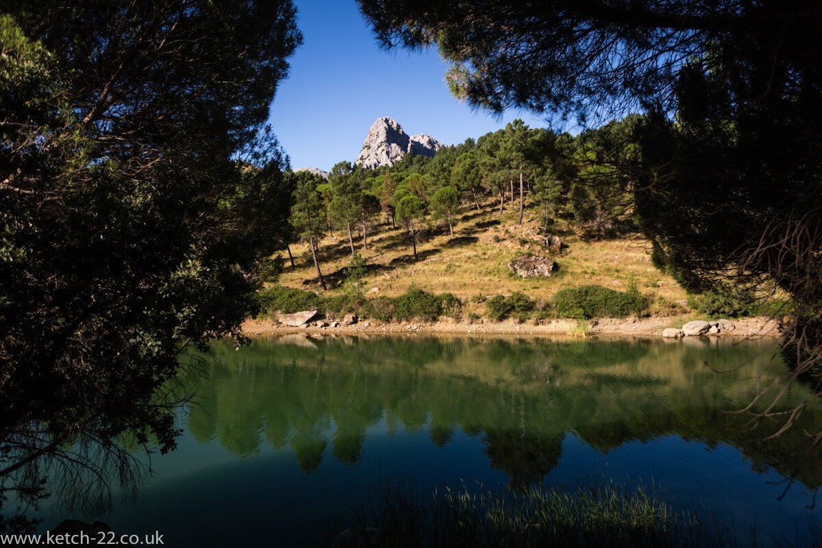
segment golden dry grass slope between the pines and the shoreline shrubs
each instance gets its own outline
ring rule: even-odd
[[[369,265],[365,291],[370,297],[395,297],[413,283],[428,292],[452,292],[466,303],[466,313],[482,315],[485,306],[478,301],[500,293],[520,291],[544,302],[562,288],[595,283],[625,291],[635,283],[653,303],[653,314],[685,311],[674,303],[684,302],[686,292],[671,276],[651,264],[650,244],[640,238],[585,242],[567,229],[559,229],[556,233],[568,245],[560,255],[553,256],[560,265],[559,271],[547,279],[513,276],[507,265],[515,256],[547,254],[539,243],[538,220],[529,217],[533,213],[518,225],[513,207],[500,216],[491,202],[479,214],[466,210],[455,223],[454,238],[447,228],[432,228],[427,240],[418,243],[417,261],[413,260],[404,230],[379,225],[368,238],[367,250],[363,251],[362,238],[354,242]],[[322,240],[320,250],[323,274],[330,275],[330,287],[334,287],[341,282],[340,269],[349,264],[348,239],[344,233],[335,232],[335,238]],[[280,283],[321,291],[307,246],[293,246],[293,254],[296,266],[285,269]],[[374,288],[376,291],[371,292]],[[333,292],[335,289],[326,293]]]

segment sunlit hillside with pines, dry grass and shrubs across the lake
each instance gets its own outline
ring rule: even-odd
[[[433,158],[407,154],[374,169],[340,162],[327,180],[291,173],[291,223],[261,292],[264,311],[523,321],[760,313],[743,290],[689,300],[653,264],[630,169],[643,124],[631,115],[571,136],[515,120]],[[534,258],[550,271],[523,277],[510,266]]]

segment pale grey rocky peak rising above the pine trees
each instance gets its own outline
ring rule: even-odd
[[[443,145],[432,136],[419,134],[409,137],[393,118],[377,118],[368,130],[357,163],[363,168],[390,166],[405,154],[433,156]]]

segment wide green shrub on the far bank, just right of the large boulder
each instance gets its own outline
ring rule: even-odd
[[[554,313],[561,318],[624,318],[648,310],[648,297],[637,291],[621,292],[601,285],[562,289],[554,297]]]

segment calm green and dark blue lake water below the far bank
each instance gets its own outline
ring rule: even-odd
[[[182,385],[178,449],[96,518],[165,546],[329,546],[386,481],[428,494],[613,481],[654,486],[764,544],[818,521],[812,403],[778,440],[730,411],[787,371],[773,341],[513,338],[217,343]],[[193,371],[195,370],[196,371]],[[810,392],[792,385],[779,408]],[[793,478],[791,485],[788,480]],[[71,496],[68,496],[71,499]],[[42,529],[82,517],[57,500]],[[94,518],[85,515],[85,518]]]

